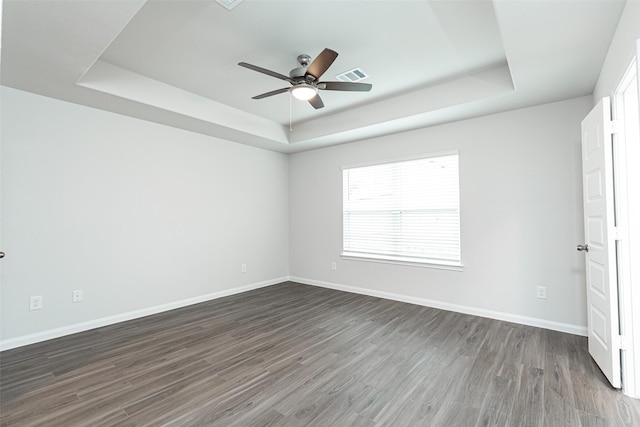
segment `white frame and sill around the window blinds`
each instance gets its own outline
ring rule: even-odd
[[[369,166],[378,166],[378,165],[387,165],[393,163],[402,163],[407,161],[414,160],[425,160],[435,157],[445,157],[445,156],[457,156],[458,160],[458,249],[459,249],[459,260],[458,261],[448,261],[448,260],[435,260],[435,259],[425,259],[419,260],[412,257],[402,257],[402,256],[389,256],[389,255],[381,255],[381,254],[365,254],[365,253],[357,253],[357,252],[348,252],[345,251],[344,242],[345,242],[345,181],[344,172],[348,169],[357,169],[362,167]],[[350,164],[344,165],[341,168],[342,170],[342,252],[340,254],[340,258],[344,260],[350,261],[365,261],[365,262],[374,262],[374,263],[383,263],[383,264],[396,264],[396,265],[404,265],[404,266],[413,266],[413,267],[426,267],[426,268],[436,268],[436,269],[444,269],[444,270],[454,270],[454,271],[463,271],[464,264],[462,263],[462,214],[461,214],[461,203],[460,203],[460,151],[459,150],[447,150],[447,151],[439,151],[433,153],[423,153],[414,156],[406,156],[406,157],[395,157],[395,158],[387,158],[380,159],[370,162],[358,163],[358,164]]]

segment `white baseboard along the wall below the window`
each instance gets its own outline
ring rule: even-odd
[[[339,285],[337,283],[323,282],[320,280],[307,279],[304,277],[290,277],[289,280],[305,285],[319,286],[322,288],[335,289],[338,291],[351,292],[354,294],[368,295],[377,298],[384,298],[393,301],[406,302],[409,304],[422,305],[425,307],[438,308],[441,310],[455,311],[457,313],[471,314],[474,316],[487,317],[489,319],[503,320],[505,322],[518,323],[521,325],[535,326],[553,331],[566,332],[572,335],[587,336],[587,328],[570,323],[554,322],[552,320],[539,319],[535,317],[520,316],[518,314],[504,313],[483,308],[469,307],[459,304],[451,304],[442,301],[430,300],[426,298],[411,297],[392,292],[376,291],[372,289],[359,288],[356,286]]]

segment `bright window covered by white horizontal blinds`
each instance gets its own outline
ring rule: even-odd
[[[461,267],[458,153],[343,170],[343,257]]]

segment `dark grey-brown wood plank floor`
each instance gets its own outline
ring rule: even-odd
[[[295,283],[0,367],[3,426],[640,426],[584,337]]]

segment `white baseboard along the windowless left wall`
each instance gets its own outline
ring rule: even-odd
[[[76,323],[69,326],[63,326],[61,328],[49,329],[47,331],[37,332],[34,334],[24,335],[16,338],[10,338],[0,341],[0,351],[10,350],[17,347],[23,347],[30,344],[36,344],[42,341],[48,341],[54,338],[60,338],[66,335],[75,334],[78,332],[84,332],[91,329],[100,328],[103,326],[109,326],[120,322],[126,322],[127,320],[138,319],[140,317],[149,316],[152,314],[158,314],[176,308],[182,308],[201,302],[211,301],[218,298],[227,297],[230,295],[239,294],[242,292],[252,291],[254,289],[264,288],[266,286],[276,285],[278,283],[286,282],[288,277],[280,277],[277,279],[266,280],[263,282],[252,283],[249,285],[238,286],[236,288],[225,289],[218,292],[212,292],[210,294],[201,295],[194,298],[187,298],[180,301],[173,301],[167,304],[161,304],[153,307],[147,307],[140,310],[130,311],[127,313],[116,314],[114,316],[102,317],[100,319],[89,320],[87,322]]]

